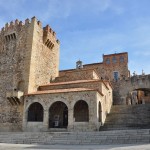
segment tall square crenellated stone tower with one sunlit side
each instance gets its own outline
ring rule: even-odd
[[[0,130],[21,128],[23,98],[58,76],[59,41],[35,17],[0,31]]]

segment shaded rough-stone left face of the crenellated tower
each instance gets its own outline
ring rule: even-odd
[[[11,130],[12,126],[21,126],[22,113],[19,113],[18,106],[11,106],[6,98],[7,92],[14,91],[18,88],[19,82],[24,82],[27,76],[24,75],[26,51],[31,48],[31,44],[26,45],[24,41],[30,38],[31,27],[22,22],[11,22],[6,24],[0,33],[0,120],[1,130]],[[27,57],[26,57],[27,58]],[[28,58],[27,58],[28,59]],[[28,68],[28,64],[26,64]],[[29,72],[28,69],[26,69]],[[24,88],[24,87],[23,87]],[[25,89],[23,89],[25,90]],[[20,109],[22,110],[22,109]],[[16,116],[14,118],[14,116]],[[12,121],[13,120],[13,121]],[[13,125],[14,124],[14,125]]]

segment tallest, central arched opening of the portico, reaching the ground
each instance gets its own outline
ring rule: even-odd
[[[67,128],[68,107],[65,103],[57,101],[49,109],[49,128]]]

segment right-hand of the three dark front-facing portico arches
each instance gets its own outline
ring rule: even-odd
[[[74,105],[74,119],[75,122],[88,122],[89,121],[89,108],[88,104],[79,100]]]

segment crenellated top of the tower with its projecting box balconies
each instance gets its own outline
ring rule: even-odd
[[[56,39],[55,31],[50,28],[49,25],[46,27],[42,27],[42,23],[37,20],[36,17],[32,17],[31,19],[26,19],[24,22],[16,19],[15,21],[11,21],[10,23],[6,23],[5,27],[0,30],[0,35],[5,36],[6,41],[11,39],[16,39],[16,30],[21,31],[21,28],[30,27],[32,25],[38,25],[39,28],[43,30],[43,43],[50,49],[52,49],[55,45],[55,42],[59,44],[59,40]]]

